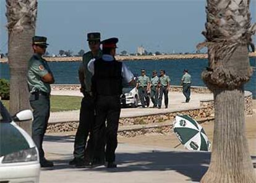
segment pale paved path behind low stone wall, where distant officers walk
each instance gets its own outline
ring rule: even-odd
[[[79,91],[52,91],[51,95],[69,95],[82,96]],[[195,109],[200,107],[200,100],[212,100],[211,93],[192,93],[189,103],[185,103],[185,97],[181,92],[169,92],[169,106],[168,109],[157,108],[125,108],[121,111],[121,117],[133,117],[149,114],[160,114],[173,111],[184,111],[188,109]],[[153,104],[150,104],[152,106]],[[163,104],[164,105],[164,104]],[[79,111],[65,111],[58,113],[51,113],[49,122],[66,122],[79,121]]]

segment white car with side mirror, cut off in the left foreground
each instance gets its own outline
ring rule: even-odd
[[[0,182],[39,182],[38,150],[30,135],[15,124],[32,117],[30,110],[11,117],[0,101]]]

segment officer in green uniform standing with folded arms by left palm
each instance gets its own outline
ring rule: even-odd
[[[43,137],[48,125],[51,92],[50,84],[54,83],[53,73],[42,55],[48,44],[47,38],[34,36],[32,38],[33,56],[28,61],[28,90],[30,91],[30,106],[33,109],[32,138],[39,151],[41,167],[52,167],[53,162],[46,160],[43,151]]]

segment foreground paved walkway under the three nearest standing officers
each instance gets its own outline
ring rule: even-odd
[[[117,148],[117,169],[107,169],[105,166],[77,169],[68,164],[72,159],[73,142],[72,135],[46,135],[46,157],[53,160],[55,166],[41,171],[41,183],[199,182],[210,162],[209,153],[121,143]]]

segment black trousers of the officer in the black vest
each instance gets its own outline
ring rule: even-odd
[[[106,161],[116,160],[117,130],[121,113],[120,95],[98,95],[96,97],[96,121],[93,126],[93,152],[101,141],[101,131],[106,124]],[[92,153],[94,155],[95,153]],[[93,156],[90,158],[93,160]]]

